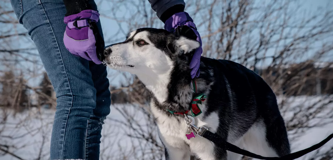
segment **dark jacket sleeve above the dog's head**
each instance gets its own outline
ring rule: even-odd
[[[184,0],[148,0],[157,17],[165,21],[173,14],[183,12],[185,8]]]

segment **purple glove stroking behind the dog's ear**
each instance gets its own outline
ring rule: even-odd
[[[175,13],[174,15],[172,15],[170,18],[168,18],[166,20],[164,29],[171,33],[176,34],[177,30],[179,28],[182,28],[182,26],[188,26],[188,28],[192,30],[192,33],[193,32],[194,33],[192,35],[186,36],[186,34],[185,35],[182,34],[182,33],[186,33],[186,32],[180,31],[180,35],[184,35],[186,37],[192,37],[192,39],[196,39],[200,43],[200,47],[194,51],[193,57],[189,64],[189,68],[192,69],[191,78],[193,79],[194,77],[199,77],[200,57],[202,54],[202,43],[201,43],[200,35],[199,35],[198,31],[196,31],[196,27],[195,27],[195,24],[193,23],[192,18],[186,12]],[[195,38],[193,38],[193,36]]]

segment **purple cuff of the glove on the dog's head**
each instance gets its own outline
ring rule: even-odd
[[[166,20],[164,25],[164,29],[174,33],[175,29],[178,26],[186,25],[196,30],[195,24],[193,23],[193,19],[188,15],[187,12],[178,12],[173,14],[170,18]]]

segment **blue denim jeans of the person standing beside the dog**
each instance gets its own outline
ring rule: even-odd
[[[95,2],[90,3],[96,10]],[[56,91],[51,160],[98,160],[102,124],[111,104],[106,67],[76,57],[65,48],[62,0],[11,0],[11,4]],[[98,26],[102,32],[100,22]]]

